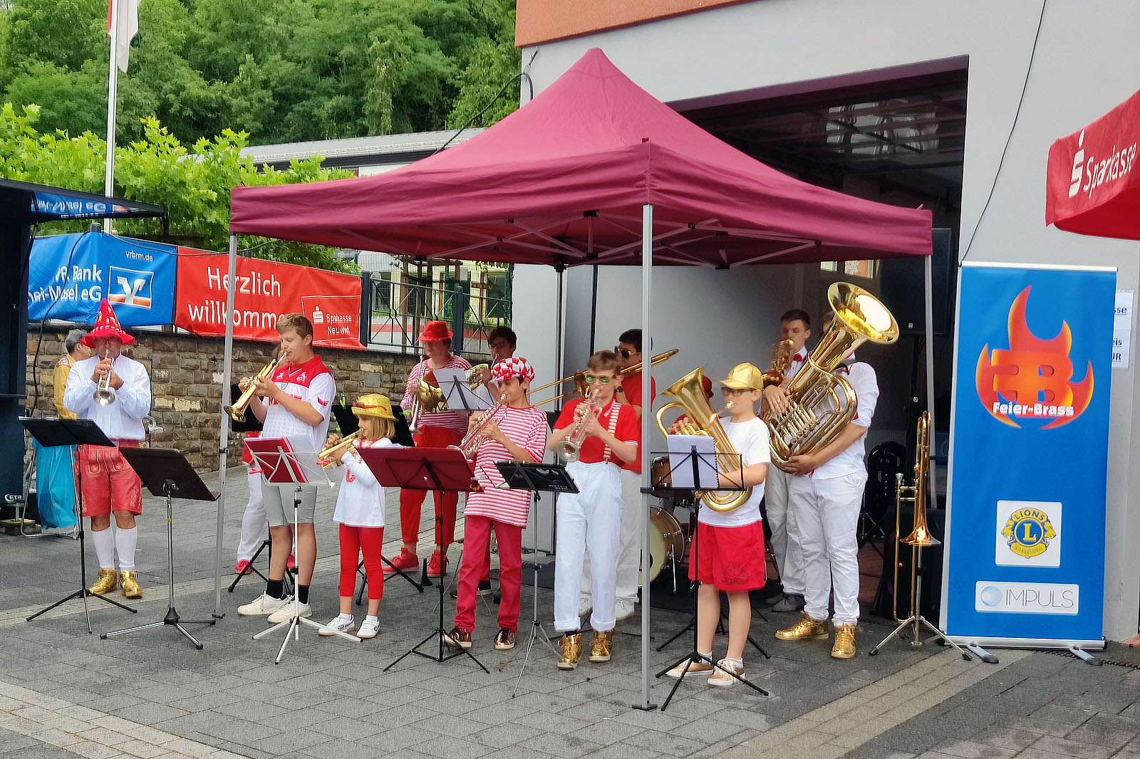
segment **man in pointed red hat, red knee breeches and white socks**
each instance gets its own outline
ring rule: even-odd
[[[104,299],[95,327],[82,338],[93,356],[72,367],[64,387],[64,406],[79,418],[93,421],[115,443],[115,448],[79,447],[83,516],[91,517],[91,542],[99,558],[99,577],[88,590],[101,594],[117,585],[128,598],[141,598],[135,572],[138,544],[135,516],[142,513],[142,483],[119,452],[122,447],[138,447],[144,435],[142,417],[150,410],[150,377],[146,367],[121,353],[123,345],[133,342]],[[96,400],[96,392],[104,383],[114,393],[113,400],[105,405]],[[117,528],[114,531],[109,529],[112,514]]]

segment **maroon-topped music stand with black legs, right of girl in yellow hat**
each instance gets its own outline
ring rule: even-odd
[[[463,451],[455,448],[361,448],[357,451],[364,459],[368,468],[376,475],[376,481],[385,488],[406,488],[408,490],[432,490],[441,492],[472,492],[479,488],[475,481],[475,472],[471,462],[464,457]],[[438,497],[438,495],[437,495]],[[442,507],[437,509],[435,534],[442,536]],[[439,547],[440,560],[447,556],[447,546]],[[459,648],[451,653],[443,653],[443,580],[437,582],[439,586],[439,627],[427,637],[412,646],[399,659],[390,663],[383,671],[390,670],[408,655],[415,654],[430,659],[437,663],[442,663],[456,656],[466,654],[471,661],[479,664],[479,668],[490,675],[490,670],[475,659],[475,655],[467,648]],[[437,655],[426,654],[420,651],[420,646],[434,637],[439,642],[439,653]]]

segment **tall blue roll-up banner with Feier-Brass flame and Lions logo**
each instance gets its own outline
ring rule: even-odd
[[[963,264],[942,620],[959,643],[1104,647],[1115,269]]]

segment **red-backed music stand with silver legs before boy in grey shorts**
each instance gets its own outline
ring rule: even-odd
[[[250,447],[250,452],[253,455],[253,459],[258,463],[258,467],[261,470],[261,476],[266,479],[274,485],[286,485],[293,484],[293,555],[296,555],[296,530],[299,522],[299,512],[301,509],[301,485],[302,484],[326,484],[329,488],[333,487],[333,481],[328,479],[328,473],[317,464],[317,451],[307,451],[295,449],[292,441],[288,438],[258,438],[256,440],[250,440],[246,443]],[[300,577],[298,578],[300,581]],[[301,639],[301,625],[308,625],[315,629],[323,629],[325,626],[319,622],[314,622],[311,619],[301,617],[301,601],[299,594],[293,594],[293,614],[290,619],[274,625],[268,630],[262,630],[253,636],[254,640],[260,640],[261,638],[272,635],[280,628],[285,627],[285,639],[282,642],[282,647],[277,651],[277,658],[274,659],[275,664],[282,663],[282,656],[285,655],[285,646],[288,645],[290,636],[294,639]],[[341,630],[333,630],[333,634],[337,637],[344,638],[345,640],[351,640],[353,643],[361,643],[360,638],[355,635],[349,635],[348,632],[342,632]]]

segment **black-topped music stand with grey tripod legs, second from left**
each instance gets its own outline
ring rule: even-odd
[[[150,491],[152,496],[166,499],[166,580],[169,585],[169,597],[166,603],[166,615],[161,622],[139,625],[124,630],[104,632],[99,637],[104,640],[113,635],[124,635],[137,630],[149,630],[168,625],[181,632],[194,647],[202,651],[202,644],[190,635],[178,612],[174,611],[174,515],[171,500],[182,498],[186,500],[218,500],[218,493],[210,490],[198,476],[186,457],[172,448],[123,448],[123,458],[131,465],[135,473],[139,475],[142,484]],[[187,625],[213,625],[215,619],[186,620]]]

